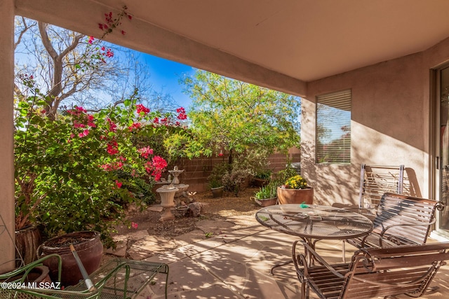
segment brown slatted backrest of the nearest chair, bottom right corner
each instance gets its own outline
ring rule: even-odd
[[[419,297],[445,260],[449,243],[360,249],[354,253],[339,298]]]

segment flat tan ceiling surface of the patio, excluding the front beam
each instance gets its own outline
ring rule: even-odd
[[[135,18],[306,82],[416,53],[449,36],[448,0],[128,0],[126,5]]]

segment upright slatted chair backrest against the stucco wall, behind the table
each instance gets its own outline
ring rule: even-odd
[[[384,193],[403,193],[404,165],[361,165],[358,206],[375,214]]]

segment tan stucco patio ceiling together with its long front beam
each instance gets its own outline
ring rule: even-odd
[[[305,95],[307,82],[426,50],[449,37],[449,0],[15,0],[16,13],[113,43]]]

